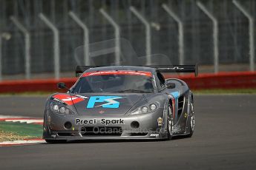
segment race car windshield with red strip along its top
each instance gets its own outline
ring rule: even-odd
[[[154,92],[151,72],[102,71],[85,72],[73,86],[72,93]]]

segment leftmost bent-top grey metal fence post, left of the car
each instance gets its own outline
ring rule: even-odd
[[[30,72],[30,33],[29,31],[18,21],[17,18],[14,18],[13,16],[10,17],[10,20],[13,21],[13,24],[16,25],[16,27],[22,31],[24,34],[24,46],[25,46],[25,77],[26,79],[31,78],[31,72]]]

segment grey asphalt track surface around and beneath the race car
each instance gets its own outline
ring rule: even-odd
[[[42,117],[46,97],[1,97],[0,115]],[[191,138],[0,147],[0,169],[256,169],[256,95],[196,95]]]

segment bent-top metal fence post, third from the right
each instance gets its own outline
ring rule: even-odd
[[[163,9],[168,13],[171,18],[174,18],[175,21],[178,23],[179,27],[179,55],[180,55],[180,65],[184,64],[184,27],[183,27],[183,21],[180,19],[179,16],[177,16],[171,8],[167,7],[166,4],[162,4]]]

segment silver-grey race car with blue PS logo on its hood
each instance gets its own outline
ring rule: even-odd
[[[168,139],[194,132],[193,94],[163,72],[195,72],[197,66],[113,66],[76,68],[67,93],[46,102],[47,143],[89,139]]]

